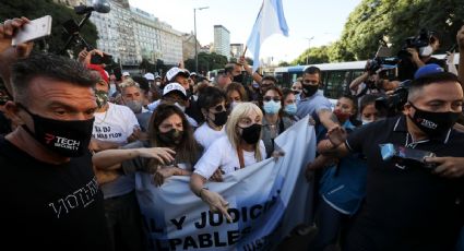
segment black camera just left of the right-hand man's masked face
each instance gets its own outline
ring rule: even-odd
[[[376,109],[382,113],[386,113],[389,117],[397,115],[397,112],[403,110],[403,106],[407,101],[411,84],[411,80],[403,81],[400,83],[398,87],[393,91],[392,95],[376,99]]]

